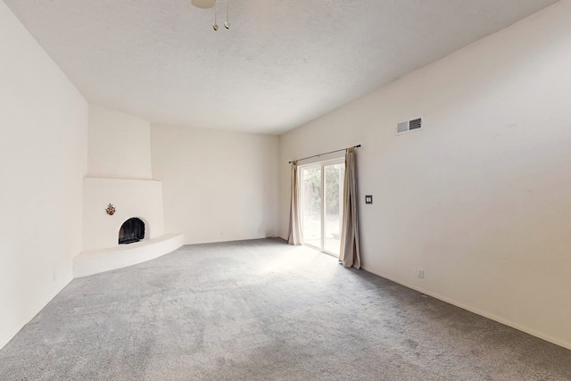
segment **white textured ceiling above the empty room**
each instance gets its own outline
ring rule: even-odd
[[[280,134],[556,0],[4,0],[94,104]]]

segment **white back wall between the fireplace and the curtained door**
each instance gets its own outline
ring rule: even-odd
[[[278,137],[154,125],[166,233],[186,244],[277,235]]]

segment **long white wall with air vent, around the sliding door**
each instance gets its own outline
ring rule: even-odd
[[[569,46],[563,1],[285,134],[280,235],[287,162],[362,144],[365,269],[571,348]]]

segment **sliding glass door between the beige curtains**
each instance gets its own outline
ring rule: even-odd
[[[343,160],[301,168],[303,243],[339,255],[343,221]]]

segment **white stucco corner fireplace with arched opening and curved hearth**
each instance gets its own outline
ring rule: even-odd
[[[184,244],[184,236],[164,234],[161,181],[84,178],[83,203],[83,252],[74,258],[74,277],[148,261]],[[105,209],[110,203],[113,214]]]

